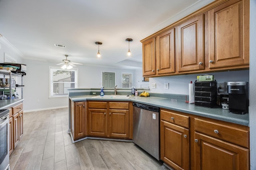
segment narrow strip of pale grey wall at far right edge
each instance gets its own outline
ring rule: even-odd
[[[256,169],[256,0],[250,0],[250,160]]]

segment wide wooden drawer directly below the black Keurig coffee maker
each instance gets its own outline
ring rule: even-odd
[[[195,131],[248,148],[249,131],[195,118]]]

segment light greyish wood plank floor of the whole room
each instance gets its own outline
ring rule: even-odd
[[[132,142],[86,139],[72,143],[68,108],[24,113],[24,134],[10,170],[163,170]]]

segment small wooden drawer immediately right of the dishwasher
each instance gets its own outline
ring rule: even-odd
[[[170,123],[180,125],[182,127],[189,128],[189,117],[180,115],[177,113],[173,113],[170,111],[161,110],[160,112],[160,119],[168,121]]]

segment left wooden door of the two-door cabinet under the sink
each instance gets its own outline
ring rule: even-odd
[[[107,136],[107,109],[88,109],[88,135]]]

